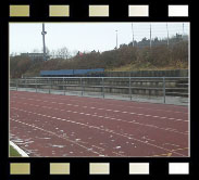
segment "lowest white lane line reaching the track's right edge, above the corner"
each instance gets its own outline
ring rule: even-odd
[[[27,104],[27,105],[30,105],[30,106],[37,106],[37,107],[42,107],[42,108],[50,108],[50,110],[53,110],[53,111],[61,111],[61,112],[67,112],[67,113],[78,113],[78,112],[73,112],[73,111],[69,111],[69,110],[52,108],[52,107],[49,107],[49,106],[40,106],[40,105],[28,104],[28,103],[20,103],[20,104]],[[128,124],[135,124],[135,125],[139,125],[139,126],[146,126],[146,127],[156,128],[156,129],[160,129],[160,130],[172,131],[172,132],[175,132],[175,133],[187,134],[187,133],[181,132],[181,131],[178,131],[176,129],[172,129],[172,128],[160,128],[160,127],[154,126],[154,125],[140,124],[140,123],[137,123],[135,120],[129,121],[129,120],[123,120],[123,119],[119,119],[119,118],[114,118],[114,117],[109,117],[109,116],[99,116],[99,115],[85,114],[83,112],[82,113],[78,113],[78,114],[80,114],[80,115],[87,115],[87,116],[89,115],[89,116],[99,117],[99,118],[107,118],[107,119],[116,120],[116,121],[123,121],[123,123],[128,123]]]

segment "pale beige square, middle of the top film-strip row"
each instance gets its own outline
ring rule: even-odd
[[[109,16],[109,5],[89,5],[89,16]]]

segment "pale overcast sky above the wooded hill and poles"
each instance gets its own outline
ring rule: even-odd
[[[144,37],[166,38],[166,23],[45,23],[46,46],[50,51],[66,47],[71,53],[108,51],[117,44],[128,44]],[[183,28],[184,24],[184,28]],[[42,23],[10,23],[10,53],[42,50]],[[167,23],[169,36],[176,33],[189,35],[189,23]],[[183,30],[184,29],[184,30]]]

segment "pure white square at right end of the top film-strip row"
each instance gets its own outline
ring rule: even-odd
[[[169,5],[169,16],[188,16],[188,5]]]

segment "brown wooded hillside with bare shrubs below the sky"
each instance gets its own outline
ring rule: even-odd
[[[39,76],[40,70],[104,68],[105,70],[181,69],[188,68],[188,39],[182,36],[167,40],[153,39],[150,48],[146,38],[140,42],[121,44],[104,52],[77,53],[70,59],[32,61],[28,56],[10,57],[10,76]]]

